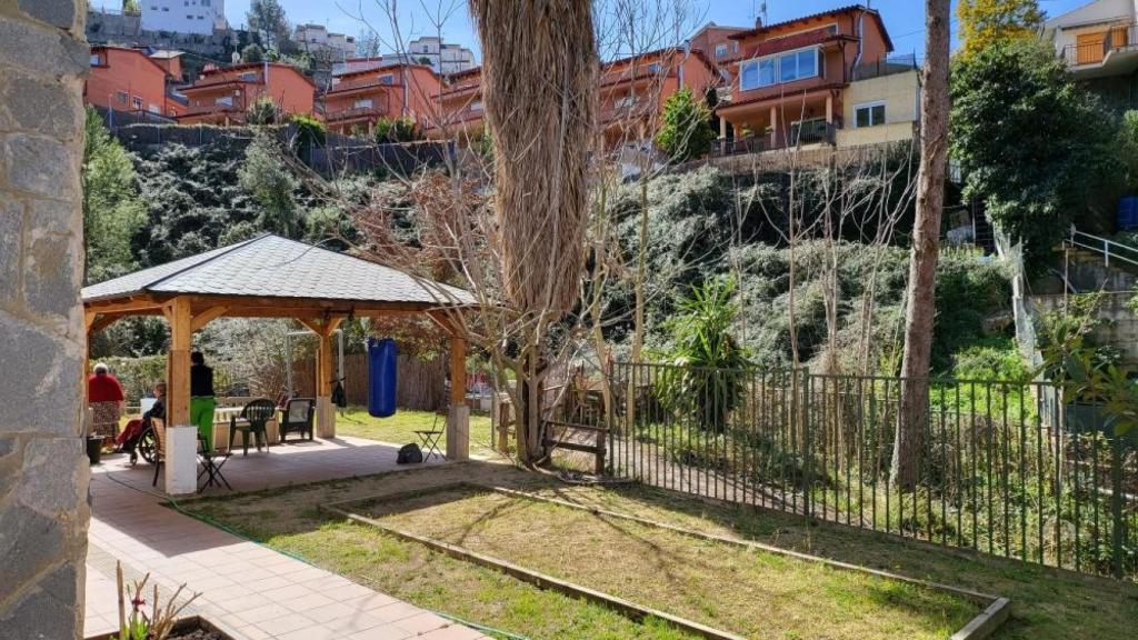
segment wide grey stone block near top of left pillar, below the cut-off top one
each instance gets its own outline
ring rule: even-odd
[[[0,15],[0,63],[46,77],[82,76],[91,49],[65,32]]]

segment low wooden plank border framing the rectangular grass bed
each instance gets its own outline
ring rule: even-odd
[[[778,547],[773,547],[770,544],[764,544],[761,542],[756,542],[756,541],[752,541],[752,540],[742,540],[742,539],[728,538],[728,536],[724,536],[724,535],[716,535],[716,534],[712,534],[712,533],[702,533],[702,532],[698,532],[698,531],[691,531],[691,530],[686,530],[686,528],[683,528],[683,527],[679,527],[679,526],[676,526],[676,525],[670,525],[670,524],[667,524],[667,523],[660,523],[660,522],[655,522],[655,520],[649,520],[649,519],[645,519],[645,518],[640,518],[640,517],[630,516],[630,515],[627,515],[627,514],[620,514],[620,512],[617,512],[617,511],[609,511],[607,509],[600,509],[600,508],[594,508],[594,507],[585,507],[585,506],[582,506],[582,504],[577,504],[575,502],[569,502],[568,500],[561,500],[561,499],[558,499],[558,498],[546,498],[544,495],[538,495],[538,494],[535,494],[535,493],[528,493],[528,492],[525,492],[525,491],[518,491],[518,490],[513,490],[513,489],[506,489],[504,486],[484,485],[484,484],[479,484],[479,483],[475,483],[475,482],[464,482],[464,481],[461,481],[461,482],[454,482],[454,483],[445,483],[445,484],[440,484],[440,485],[436,485],[436,486],[431,486],[431,487],[422,487],[422,489],[415,489],[415,490],[409,490],[409,491],[397,491],[397,492],[391,492],[391,493],[386,493],[386,494],[368,495],[368,497],[363,497],[363,498],[352,498],[352,499],[348,499],[348,500],[338,500],[338,501],[333,501],[333,502],[328,502],[328,503],[324,503],[324,504],[320,504],[319,508],[321,510],[336,514],[338,516],[345,517],[345,518],[354,520],[354,522],[358,522],[358,523],[362,523],[362,524],[366,524],[366,525],[371,525],[371,526],[378,527],[378,528],[382,530],[386,533],[395,535],[396,538],[401,538],[403,540],[407,540],[407,541],[411,541],[411,542],[418,542],[418,543],[423,544],[423,545],[426,545],[426,547],[428,547],[430,549],[434,549],[436,551],[445,553],[445,555],[447,555],[447,556],[450,556],[452,558],[456,558],[456,559],[460,559],[460,560],[465,560],[465,561],[473,563],[473,564],[477,564],[477,565],[480,565],[480,566],[484,566],[484,567],[487,567],[487,568],[500,571],[502,573],[505,573],[506,575],[513,576],[513,577],[516,577],[518,580],[521,580],[523,582],[528,582],[528,583],[534,584],[534,585],[536,585],[538,588],[542,588],[542,589],[552,589],[554,591],[559,591],[559,592],[566,593],[568,596],[579,597],[579,598],[584,598],[586,600],[591,600],[591,601],[594,601],[594,602],[599,602],[599,604],[605,605],[605,606],[608,606],[610,608],[613,608],[617,612],[619,612],[619,613],[621,613],[621,614],[624,614],[624,615],[626,615],[628,617],[632,617],[633,620],[636,620],[636,621],[641,621],[645,616],[653,616],[653,617],[658,617],[658,618],[665,620],[668,623],[673,624],[674,626],[677,626],[677,627],[683,629],[685,631],[698,633],[698,634],[700,634],[700,635],[702,635],[704,638],[709,638],[711,640],[740,639],[741,638],[739,635],[735,635],[735,634],[732,634],[732,633],[728,633],[728,632],[725,632],[725,631],[719,631],[717,629],[712,629],[710,626],[700,624],[698,622],[693,622],[693,621],[690,621],[690,620],[686,620],[686,618],[674,616],[671,614],[667,614],[665,612],[659,612],[659,610],[655,610],[655,609],[652,609],[652,608],[649,608],[649,607],[643,607],[643,606],[636,605],[634,602],[630,602],[628,600],[624,600],[621,598],[617,598],[616,596],[610,596],[610,594],[601,592],[601,591],[588,589],[587,586],[582,586],[582,585],[574,584],[571,582],[567,582],[567,581],[563,581],[563,580],[560,580],[560,579],[555,579],[555,577],[552,577],[552,576],[549,576],[549,575],[545,575],[545,574],[542,574],[542,573],[538,573],[538,572],[533,572],[533,571],[529,571],[529,569],[527,569],[525,567],[514,565],[512,563],[508,563],[505,560],[501,560],[498,558],[494,558],[492,556],[486,556],[486,555],[483,555],[483,553],[478,553],[476,551],[472,551],[472,550],[469,550],[469,549],[465,549],[465,548],[462,548],[462,547],[459,547],[459,545],[455,545],[455,544],[450,544],[447,542],[443,542],[443,541],[439,541],[439,540],[435,540],[435,539],[431,539],[431,538],[426,538],[426,536],[417,535],[417,534],[413,534],[413,533],[407,533],[407,532],[397,530],[395,527],[385,525],[385,524],[382,524],[382,523],[380,523],[380,522],[378,522],[376,519],[372,519],[372,518],[369,518],[369,517],[365,517],[365,516],[361,516],[358,514],[355,514],[355,512],[349,511],[349,510],[347,510],[347,509],[344,508],[347,504],[354,504],[354,503],[360,503],[360,502],[373,502],[373,501],[389,501],[389,502],[395,502],[395,501],[399,501],[399,500],[410,500],[412,498],[421,498],[423,495],[430,495],[432,493],[443,493],[443,492],[446,492],[446,491],[455,491],[455,490],[475,490],[475,491],[481,491],[481,492],[500,493],[502,495],[509,495],[509,497],[512,497],[512,498],[520,498],[520,499],[525,499],[525,500],[533,500],[533,501],[536,501],[536,502],[546,502],[546,503],[551,503],[551,504],[558,504],[558,506],[561,506],[561,507],[568,507],[570,509],[576,509],[578,511],[588,511],[588,512],[597,515],[597,516],[605,516],[605,517],[610,517],[610,518],[618,518],[618,519],[622,519],[622,520],[629,520],[629,522],[634,522],[634,523],[637,523],[637,524],[641,524],[641,525],[644,525],[644,526],[660,528],[660,530],[669,531],[669,532],[673,532],[673,533],[679,533],[679,534],[683,534],[683,535],[687,535],[690,538],[696,538],[696,539],[700,539],[700,540],[706,540],[706,541],[710,541],[710,542],[719,542],[719,543],[724,543],[724,544],[732,544],[732,545],[735,545],[735,547],[744,547],[744,548],[749,548],[749,549],[756,549],[756,550],[765,551],[765,552],[768,552],[768,553],[774,553],[774,555],[784,556],[784,557],[789,557],[789,558],[795,558],[795,559],[799,559],[799,560],[806,560],[806,561],[811,561],[811,563],[819,563],[819,564],[827,565],[827,566],[831,566],[831,567],[834,567],[834,568],[839,568],[839,569],[843,569],[843,571],[859,572],[859,573],[865,573],[865,574],[869,574],[869,575],[875,575],[877,577],[882,577],[882,579],[885,579],[885,580],[899,581],[899,582],[904,582],[904,583],[907,583],[907,584],[913,584],[913,585],[916,585],[916,586],[921,586],[921,588],[924,588],[924,589],[930,589],[930,590],[933,590],[933,591],[947,592],[947,593],[951,593],[954,596],[959,596],[959,597],[962,597],[962,598],[964,598],[964,599],[966,599],[968,601],[975,602],[975,604],[984,607],[984,609],[982,612],[980,612],[971,621],[968,621],[968,623],[966,625],[964,625],[960,630],[958,630],[956,633],[954,633],[950,637],[949,640],[982,640],[984,638],[988,638],[1001,624],[1004,624],[1004,622],[1011,615],[1011,600],[1008,600],[1007,598],[1000,597],[1000,596],[992,596],[992,594],[989,594],[989,593],[982,593],[980,591],[973,591],[971,589],[964,589],[962,586],[953,586],[953,585],[948,585],[948,584],[941,584],[941,583],[937,583],[937,582],[930,582],[930,581],[925,581],[925,580],[918,580],[918,579],[908,577],[908,576],[894,574],[894,573],[882,571],[882,569],[875,569],[875,568],[871,568],[871,567],[864,567],[864,566],[853,565],[853,564],[850,564],[850,563],[842,563],[840,560],[832,560],[832,559],[822,558],[822,557],[818,557],[818,556],[810,556],[808,553],[802,553],[800,551],[792,551],[792,550],[789,550],[789,549],[782,549],[782,548],[778,548]]]

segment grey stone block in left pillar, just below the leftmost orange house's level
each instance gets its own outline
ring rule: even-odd
[[[75,177],[80,158],[67,145],[50,138],[14,133],[3,139],[0,157],[9,188],[47,198],[77,198]]]

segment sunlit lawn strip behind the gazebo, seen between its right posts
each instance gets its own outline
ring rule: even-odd
[[[437,419],[436,419],[437,416]],[[413,411],[399,409],[390,418],[374,418],[363,407],[349,407],[337,416],[336,433],[353,437],[364,437],[391,444],[420,444],[415,429],[445,430],[446,416],[434,411]],[[470,452],[472,454],[496,456],[492,449],[490,417],[478,413],[470,415]],[[438,441],[438,446],[446,451],[446,434]]]

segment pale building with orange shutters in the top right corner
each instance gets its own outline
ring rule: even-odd
[[[1044,23],[1044,38],[1075,77],[1123,75],[1138,69],[1138,0],[1096,0]]]

